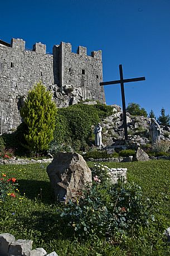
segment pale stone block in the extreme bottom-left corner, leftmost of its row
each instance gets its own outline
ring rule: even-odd
[[[15,241],[13,235],[3,233],[0,235],[0,255],[8,256],[9,245]]]

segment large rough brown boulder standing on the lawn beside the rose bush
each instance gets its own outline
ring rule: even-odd
[[[57,153],[47,166],[47,173],[59,202],[77,198],[85,186],[92,182],[90,168],[77,153]]]

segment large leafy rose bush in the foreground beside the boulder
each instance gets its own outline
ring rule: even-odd
[[[98,174],[98,176],[96,175]],[[104,178],[103,178],[104,177]],[[143,197],[137,184],[106,183],[109,168],[98,165],[93,169],[93,186],[84,191],[76,202],[69,201],[60,212],[62,229],[75,237],[105,238],[137,235],[138,227],[148,226],[154,216],[149,199]]]

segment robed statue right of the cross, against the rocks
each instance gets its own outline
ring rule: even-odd
[[[151,118],[151,124],[149,126],[149,135],[152,138],[152,145],[157,144],[161,141],[161,128],[154,118]]]

